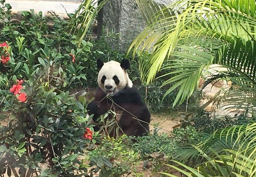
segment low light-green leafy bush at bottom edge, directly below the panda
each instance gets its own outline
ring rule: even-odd
[[[134,172],[135,176],[141,176],[135,165],[140,160],[139,153],[129,149],[131,140],[127,135],[117,139],[104,137],[100,146],[89,152],[86,160],[90,160],[90,166],[96,166],[92,171],[100,175],[104,174],[113,177],[120,177],[124,174]],[[110,162],[108,161],[110,159]]]

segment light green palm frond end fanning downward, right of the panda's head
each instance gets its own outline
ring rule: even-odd
[[[191,96],[191,94],[193,94],[198,85],[197,78],[200,77],[205,66],[210,66],[213,57],[207,53],[200,52],[186,46],[179,46],[179,48],[177,47],[177,50],[173,52],[173,57],[182,58],[182,60],[169,60],[170,63],[163,69],[175,69],[172,72],[167,72],[165,75],[176,74],[176,76],[165,81],[162,86],[175,82],[173,86],[164,94],[163,99],[174,89],[180,87],[180,90],[173,103],[173,105],[175,105],[178,101],[182,103],[187,96]],[[184,60],[184,58],[187,60]]]

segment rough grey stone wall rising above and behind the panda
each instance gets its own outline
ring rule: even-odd
[[[157,3],[169,4],[174,0],[156,0]],[[145,28],[145,21],[134,0],[109,0],[104,6],[103,24],[108,34],[118,33],[112,41],[113,48],[126,52],[132,41]]]

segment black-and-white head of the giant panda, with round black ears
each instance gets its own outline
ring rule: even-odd
[[[103,63],[97,60],[97,66],[100,69],[98,73],[98,85],[109,96],[113,96],[124,87],[132,87],[127,69],[130,69],[128,60],[123,59],[121,63],[116,61],[109,61]]]

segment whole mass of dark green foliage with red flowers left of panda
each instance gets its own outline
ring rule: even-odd
[[[85,92],[70,89],[85,85],[92,44],[78,48],[68,22],[58,17],[32,10],[11,20],[11,7],[1,3],[0,114],[8,125],[0,126],[0,174],[87,175],[78,159],[98,134],[90,141],[85,130]]]

